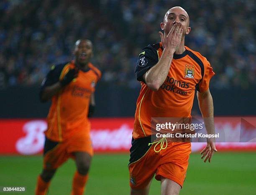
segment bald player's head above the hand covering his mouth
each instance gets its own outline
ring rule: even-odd
[[[168,35],[172,26],[175,23],[181,23],[183,28],[183,35],[189,34],[191,28],[189,27],[189,16],[185,10],[179,7],[171,8],[167,11],[166,15],[164,16],[164,22],[161,23],[161,29],[164,30],[165,36]]]

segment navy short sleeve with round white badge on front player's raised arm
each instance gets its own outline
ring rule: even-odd
[[[144,81],[143,75],[148,71],[151,67],[155,66],[158,62],[158,54],[154,48],[146,47],[143,48],[141,53],[138,56],[138,60],[135,67],[135,75],[138,81]]]

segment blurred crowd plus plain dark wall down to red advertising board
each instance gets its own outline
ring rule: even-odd
[[[256,115],[253,0],[1,0],[0,117],[45,117],[49,104],[39,103],[40,83],[51,65],[72,59],[81,37],[93,42],[92,63],[102,71],[95,115],[133,116],[138,54],[160,41],[163,16],[176,5],[190,16],[185,45],[216,73],[210,83],[215,114]]]

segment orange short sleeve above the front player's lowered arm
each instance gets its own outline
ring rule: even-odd
[[[212,70],[210,62],[206,60],[206,63],[204,63],[204,76],[203,79],[198,84],[197,91],[201,93],[205,92],[209,88],[210,80],[214,75],[215,73]]]

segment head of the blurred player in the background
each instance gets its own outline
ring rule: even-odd
[[[92,57],[92,43],[89,40],[78,40],[74,55],[77,63],[81,65],[87,64]]]

